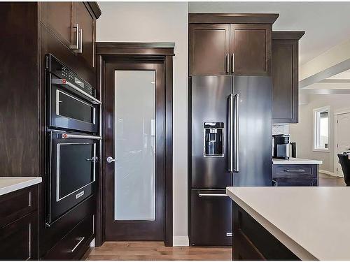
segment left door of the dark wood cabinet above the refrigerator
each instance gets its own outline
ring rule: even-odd
[[[224,75],[228,73],[229,52],[229,24],[190,24],[190,75]]]

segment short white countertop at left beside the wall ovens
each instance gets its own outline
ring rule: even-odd
[[[41,183],[41,177],[0,177],[0,196]]]

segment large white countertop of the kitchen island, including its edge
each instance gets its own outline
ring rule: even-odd
[[[226,194],[302,260],[350,260],[350,187],[228,187]]]

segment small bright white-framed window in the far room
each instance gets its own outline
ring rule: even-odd
[[[314,109],[314,151],[329,150],[330,107]]]

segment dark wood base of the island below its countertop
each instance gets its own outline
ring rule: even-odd
[[[235,202],[232,211],[233,260],[300,260]]]

